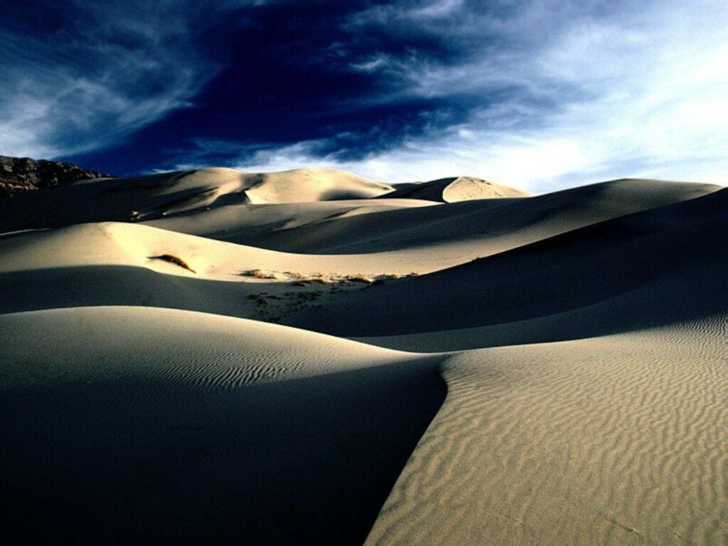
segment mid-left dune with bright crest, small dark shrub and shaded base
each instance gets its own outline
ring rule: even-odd
[[[0,312],[143,305],[271,320],[411,266],[397,256],[298,255],[87,223],[0,236]]]

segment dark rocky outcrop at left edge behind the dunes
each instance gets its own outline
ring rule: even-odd
[[[0,198],[89,178],[114,178],[73,163],[0,156]]]

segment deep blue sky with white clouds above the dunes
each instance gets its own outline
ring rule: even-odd
[[[725,0],[0,4],[0,154],[728,183]]]

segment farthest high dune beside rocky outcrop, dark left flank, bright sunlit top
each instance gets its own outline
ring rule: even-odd
[[[137,221],[240,203],[363,199],[388,184],[333,169],[242,173],[210,168],[82,181],[0,202],[0,232],[98,221]]]

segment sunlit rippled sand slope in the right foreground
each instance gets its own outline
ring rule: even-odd
[[[719,545],[728,314],[464,352],[371,545]]]

